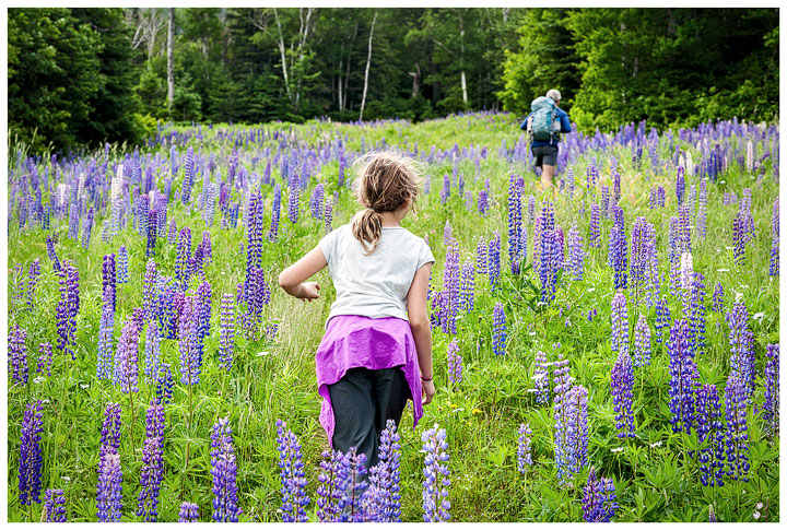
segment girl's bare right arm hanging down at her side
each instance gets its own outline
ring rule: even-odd
[[[415,272],[413,283],[408,293],[408,319],[415,339],[415,351],[421,369],[421,387],[423,389],[423,404],[432,401],[435,393],[432,380],[432,328],[426,315],[426,291],[428,291],[428,276],[432,263],[426,263]],[[427,379],[427,380],[424,380]]]

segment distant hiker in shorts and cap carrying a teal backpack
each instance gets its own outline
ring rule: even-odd
[[[536,166],[541,167],[541,190],[552,187],[552,177],[557,165],[557,144],[561,132],[571,132],[568,115],[559,107],[560,91],[552,89],[545,96],[530,103],[530,114],[520,129],[530,136],[530,150],[536,157]]]

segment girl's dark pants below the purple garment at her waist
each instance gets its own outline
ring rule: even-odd
[[[333,448],[346,452],[355,447],[366,455],[366,469],[377,463],[379,435],[387,420],[401,420],[410,386],[401,368],[351,368],[328,385],[336,417]]]

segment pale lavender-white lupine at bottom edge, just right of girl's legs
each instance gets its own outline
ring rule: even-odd
[[[450,519],[448,500],[448,441],[446,432],[435,423],[434,427],[421,435],[424,459],[423,509],[424,522],[442,522]]]

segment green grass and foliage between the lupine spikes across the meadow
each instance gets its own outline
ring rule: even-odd
[[[413,431],[412,415],[406,411],[400,425],[401,432],[401,481],[402,518],[419,521],[421,508],[421,471],[423,455],[421,433],[438,423],[446,428],[451,455],[450,494],[451,519],[456,521],[579,521],[582,520],[582,487],[589,467],[594,466],[601,476],[612,478],[620,507],[618,521],[704,521],[707,520],[708,505],[713,504],[720,521],[751,521],[756,503],[767,505],[761,511],[768,521],[778,520],[778,437],[771,440],[762,433],[762,420],[750,408],[749,436],[751,447],[750,482],[738,487],[731,483],[720,488],[704,487],[700,483],[696,459],[686,459],[684,448],[691,439],[672,433],[669,423],[668,389],[669,357],[665,344],[654,341],[653,365],[636,369],[635,414],[637,437],[622,443],[615,437],[614,412],[610,394],[610,369],[615,355],[610,349],[610,302],[614,294],[612,272],[607,266],[607,239],[610,220],[602,220],[600,249],[587,248],[590,204],[600,200],[600,189],[584,187],[585,170],[590,157],[600,164],[601,182],[610,186],[609,161],[619,161],[622,176],[621,205],[625,212],[626,234],[636,216],[645,216],[656,227],[661,271],[661,292],[667,293],[673,319],[681,315],[681,303],[669,295],[667,260],[667,234],[669,217],[677,215],[673,167],[667,167],[665,157],[670,157],[673,148],[661,140],[661,157],[665,168],[654,174],[647,153],[643,167],[632,167],[631,148],[619,145],[602,151],[579,154],[572,163],[577,182],[573,198],[567,193],[557,195],[555,223],[563,227],[566,240],[572,223],[585,237],[585,279],[572,282],[567,275],[561,281],[555,301],[545,308],[533,310],[528,305],[533,292],[526,288],[528,280],[539,284],[529,267],[519,276],[513,276],[507,257],[507,193],[508,175],[524,175],[524,197],[533,193],[537,212],[541,193],[536,189],[536,176],[521,163],[509,164],[498,156],[498,148],[505,140],[508,148],[515,143],[519,130],[513,117],[506,115],[475,115],[451,117],[426,121],[416,126],[404,122],[384,122],[375,126],[355,127],[325,122],[309,122],[304,126],[271,123],[265,126],[269,132],[283,131],[297,138],[304,145],[325,146],[341,136],[348,138],[348,149],[361,150],[379,145],[385,139],[387,145],[402,145],[412,150],[414,142],[423,157],[427,157],[432,145],[437,150],[450,150],[455,144],[460,152],[463,148],[486,148],[488,156],[481,160],[481,173],[475,174],[473,160],[458,163],[459,173],[465,177],[465,189],[473,196],[473,208],[466,210],[463,197],[451,189],[446,204],[441,204],[439,190],[443,175],[450,175],[450,162],[428,164],[425,173],[432,176],[432,189],[420,198],[416,215],[408,216],[403,226],[419,236],[428,236],[432,250],[437,259],[432,273],[432,290],[438,291],[443,283],[445,245],[443,231],[449,222],[454,236],[461,249],[461,260],[474,260],[479,236],[490,240],[494,231],[500,231],[503,240],[502,288],[491,293],[483,275],[475,279],[475,308],[471,313],[460,311],[457,339],[465,362],[465,380],[455,388],[448,388],[446,349],[450,337],[439,330],[433,332],[433,351],[437,394],[434,402],[425,408],[424,417]],[[213,131],[202,127],[201,143],[191,138],[195,151],[203,156],[213,154],[216,167],[226,175],[226,167],[233,155],[235,143],[219,139],[215,131],[226,130],[216,126]],[[234,128],[235,131],[244,130]],[[183,130],[181,130],[183,132]],[[740,140],[730,140],[732,149]],[[248,143],[237,146],[240,164],[249,175],[262,175],[265,162],[262,152],[270,146],[275,152],[277,141],[268,140],[263,145]],[[698,154],[694,146],[681,143],[692,151],[695,163]],[[185,146],[179,145],[184,152]],[[745,151],[744,141],[741,149]],[[10,154],[14,150],[11,150]],[[142,154],[146,151],[141,150]],[[154,149],[153,154],[168,157],[168,148]],[[762,149],[761,149],[762,152]],[[124,153],[113,151],[111,156]],[[250,167],[250,157],[258,156],[256,167]],[[166,165],[168,168],[168,164]],[[694,269],[705,275],[707,287],[705,301],[710,304],[713,288],[720,282],[725,287],[725,307],[728,309],[736,292],[742,294],[750,316],[762,313],[762,318],[751,318],[749,325],[754,333],[756,350],[756,391],[754,402],[762,403],[764,352],[768,343],[778,342],[778,280],[768,276],[771,250],[771,212],[774,198],[778,195],[778,182],[774,181],[773,169],[766,162],[766,174],[757,180],[741,173],[738,164],[730,161],[727,173],[717,182],[708,182],[707,236],[704,240],[693,237]],[[274,164],[273,175],[279,178]],[[212,334],[207,339],[200,384],[193,388],[195,413],[191,428],[188,428],[188,389],[179,380],[177,341],[162,341],[162,356],[173,366],[176,380],[173,403],[166,408],[165,429],[165,476],[161,491],[160,520],[177,520],[181,500],[196,502],[200,506],[200,519],[210,520],[212,510],[210,474],[210,431],[213,423],[223,416],[230,417],[238,463],[239,506],[244,510],[242,520],[277,521],[280,506],[280,482],[278,451],[275,448],[275,421],[282,419],[297,434],[304,451],[308,493],[314,498],[317,485],[317,463],[320,452],[328,448],[325,432],[318,423],[320,398],[317,394],[314,353],[319,344],[325,319],[329,313],[334,291],[327,270],[317,275],[322,286],[320,299],[304,304],[279,288],[278,273],[314,248],[322,237],[320,221],[310,216],[308,195],[318,181],[326,185],[326,196],[332,195],[337,186],[338,163],[331,161],[322,166],[313,179],[309,191],[301,197],[301,220],[290,223],[286,216],[286,188],[282,197],[281,229],[277,243],[263,242],[263,267],[272,288],[271,303],[266,317],[279,322],[274,340],[249,341],[243,334],[236,339],[235,364],[226,374],[218,367],[219,304],[223,293],[235,293],[236,285],[244,280],[245,254],[239,244],[247,245],[244,214],[240,213],[238,227],[221,228],[221,213],[218,212],[213,226],[209,227],[213,245],[213,260],[205,267],[207,280],[213,292]],[[173,189],[178,189],[183,179],[183,166]],[[350,168],[348,168],[350,174]],[[492,200],[485,216],[475,209],[478,191],[490,179]],[[691,185],[697,185],[695,177],[686,179],[686,192]],[[667,191],[667,205],[649,210],[650,187],[661,185]],[[160,190],[163,179],[157,179]],[[735,191],[740,197],[743,188],[752,189],[752,213],[755,222],[755,237],[747,246],[745,264],[738,267],[732,261],[732,219],[737,205],[723,205],[725,191]],[[266,196],[266,229],[270,224],[272,187],[262,186]],[[197,208],[201,193],[198,179],[192,190],[192,207],[172,202],[168,220],[177,222],[178,229],[188,225],[192,232],[192,248],[205,229],[202,214]],[[359,209],[346,188],[339,189],[340,201],[334,208],[332,225],[346,223]],[[48,193],[44,193],[45,202]],[[233,200],[240,201],[242,210],[247,196],[233,191]],[[587,213],[582,214],[585,210]],[[527,212],[527,207],[525,208]],[[140,392],[131,398],[121,394],[110,381],[98,381],[95,376],[97,331],[102,311],[101,274],[102,257],[116,252],[120,245],[129,249],[130,282],[119,286],[118,309],[115,317],[115,337],[125,319],[134,307],[141,305],[141,285],[145,271],[145,242],[131,231],[124,229],[114,240],[102,242],[101,228],[106,212],[97,213],[90,248],[84,250],[67,237],[68,216],[52,219],[52,228],[59,234],[56,246],[60,259],[71,259],[80,272],[81,310],[78,318],[77,360],[72,362],[56,353],[52,376],[36,382],[35,363],[38,343],[48,340],[57,343],[56,306],[59,301],[58,276],[46,256],[47,233],[38,228],[19,228],[17,213],[11,219],[9,234],[9,299],[13,297],[13,266],[23,266],[23,276],[33,259],[42,262],[42,280],[36,295],[36,308],[30,311],[11,306],[9,322],[19,323],[27,331],[30,382],[14,384],[9,378],[8,394],[8,451],[9,451],[9,520],[28,520],[28,507],[21,506],[17,491],[20,423],[24,405],[36,399],[47,400],[44,412],[43,486],[62,487],[66,491],[70,520],[95,520],[95,488],[97,482],[98,445],[103,411],[107,402],[122,405],[124,434],[121,463],[124,472],[124,520],[137,520],[137,495],[141,469],[141,439],[144,433],[144,411],[154,388],[146,385],[140,375]],[[527,224],[527,213],[525,214]],[[532,249],[532,225],[528,229],[528,263]],[[175,263],[175,247],[166,239],[156,245],[155,261],[160,272],[172,274]],[[191,284],[193,291],[196,285]],[[627,294],[627,293],[626,293]],[[491,349],[492,308],[495,302],[504,304],[508,321],[508,344],[506,354],[495,356]],[[591,308],[598,310],[592,322],[587,320]],[[644,304],[629,303],[629,322],[632,328],[637,315],[647,316],[654,331],[655,311]],[[724,394],[729,373],[728,328],[723,315],[708,310],[707,352],[698,356],[702,382],[714,382]],[[140,339],[140,364],[143,363],[144,334]],[[560,342],[560,350],[569,360],[571,375],[577,384],[589,390],[589,464],[573,481],[573,486],[561,486],[554,468],[553,412],[550,404],[538,405],[532,389],[532,364],[536,352],[542,350],[554,361],[552,344]],[[129,422],[131,421],[130,399],[134,400],[136,447],[131,447]],[[526,475],[517,471],[517,428],[529,423],[532,428],[533,466]],[[189,451],[186,464],[186,451]],[[316,519],[314,502],[308,508]],[[33,520],[40,517],[42,507],[32,510]]]

